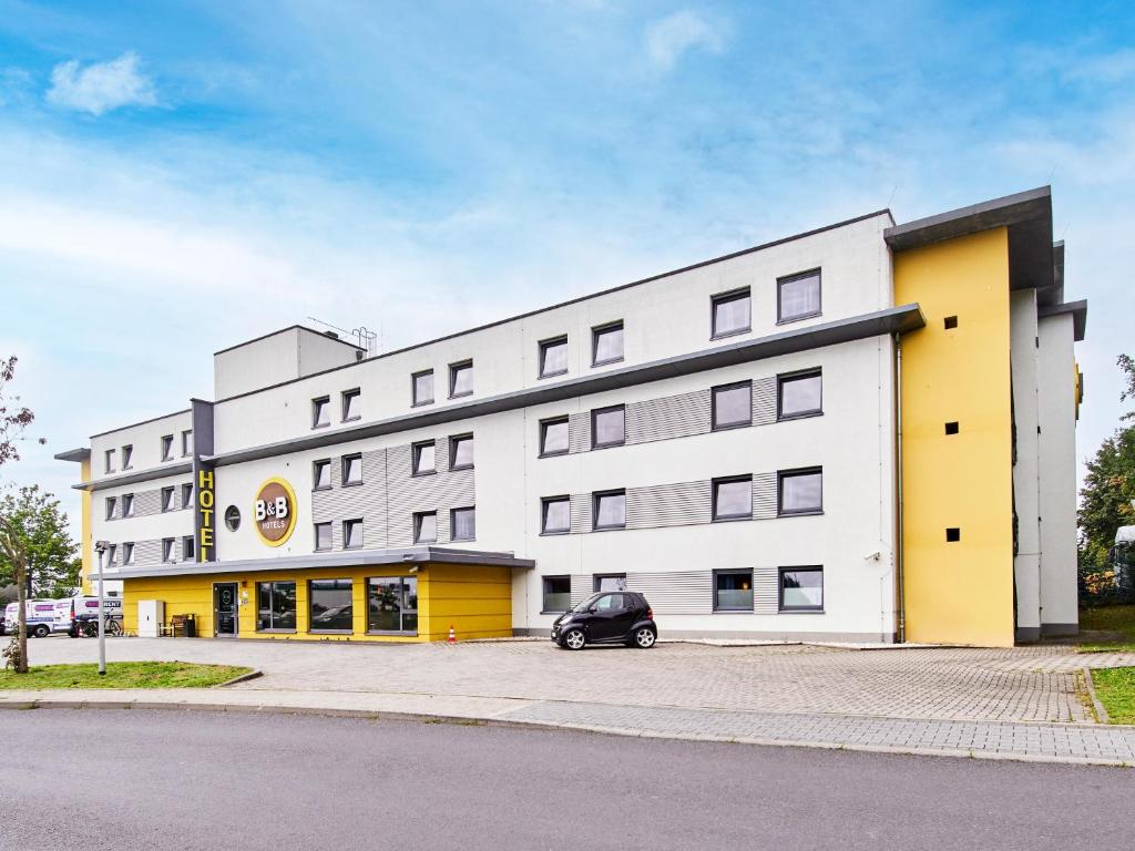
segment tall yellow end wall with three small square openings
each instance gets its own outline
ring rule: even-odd
[[[997,228],[894,255],[902,339],[907,641],[1014,642],[1009,243]],[[945,317],[958,327],[945,330]],[[958,421],[958,435],[944,423]],[[947,542],[948,526],[961,540]]]

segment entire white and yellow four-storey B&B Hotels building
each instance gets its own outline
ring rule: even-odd
[[[377,356],[293,327],[60,457],[127,617],[205,635],[546,634],[623,588],[667,635],[1070,632],[1086,305],[1051,233],[1041,188]]]

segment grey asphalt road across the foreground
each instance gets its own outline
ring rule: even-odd
[[[1130,849],[1135,769],[196,711],[0,713],[0,849]]]

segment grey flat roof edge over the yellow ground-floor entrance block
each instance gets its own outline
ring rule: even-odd
[[[193,576],[218,573],[255,573],[260,571],[300,571],[320,567],[369,567],[387,564],[470,564],[490,567],[531,570],[536,561],[516,558],[512,553],[487,553],[448,547],[411,547],[354,553],[312,553],[278,558],[242,558],[235,562],[186,562],[178,565],[123,568],[108,573],[107,579],[152,579],[154,576]]]

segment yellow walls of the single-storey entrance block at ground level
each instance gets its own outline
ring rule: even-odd
[[[394,565],[401,566],[401,565]],[[382,567],[340,567],[313,571],[261,571],[193,576],[158,576],[124,581],[124,626],[137,631],[138,600],[163,600],[166,621],[174,615],[193,614],[197,634],[213,634],[215,582],[239,585],[239,637],[306,641],[444,641],[452,625],[459,641],[474,638],[512,635],[512,574],[508,567],[479,565],[424,565],[418,576],[418,635],[368,635],[367,579],[410,575]],[[308,580],[352,580],[354,634],[336,635],[308,632]],[[296,583],[296,631],[257,632],[257,583]],[[247,603],[244,593],[247,592]]]

